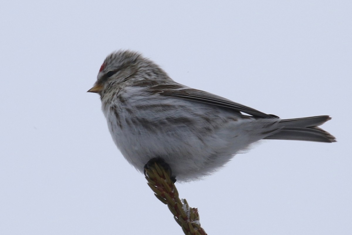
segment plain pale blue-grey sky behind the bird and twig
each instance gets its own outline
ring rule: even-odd
[[[337,143],[262,141],[177,184],[208,234],[351,234],[351,1],[126,2],[1,2],[0,234],[182,234],[86,93],[118,49],[281,118],[333,117]]]

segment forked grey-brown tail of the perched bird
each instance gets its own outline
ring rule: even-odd
[[[336,142],[333,135],[318,127],[330,119],[329,116],[283,119],[279,122],[281,130],[264,139]]]

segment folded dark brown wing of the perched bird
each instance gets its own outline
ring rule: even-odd
[[[174,98],[193,100],[197,102],[202,102],[206,104],[226,107],[238,112],[244,112],[253,117],[260,118],[272,118],[276,117],[274,115],[269,115],[258,110],[252,109],[251,107],[235,103],[231,100],[225,99],[219,95],[214,95],[209,92],[185,88],[179,84],[161,84],[151,87],[153,94],[165,95]]]

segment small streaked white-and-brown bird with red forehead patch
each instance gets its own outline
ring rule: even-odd
[[[138,52],[108,55],[88,92],[100,94],[110,134],[143,172],[162,161],[178,181],[206,177],[262,139],[335,142],[329,116],[280,119],[172,80]]]

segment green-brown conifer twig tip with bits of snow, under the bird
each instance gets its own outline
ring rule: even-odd
[[[169,171],[165,171],[158,163],[145,168],[145,178],[155,196],[168,205],[174,219],[186,235],[206,235],[200,226],[197,208],[190,208],[186,199],[178,197],[177,189],[170,179]]]

